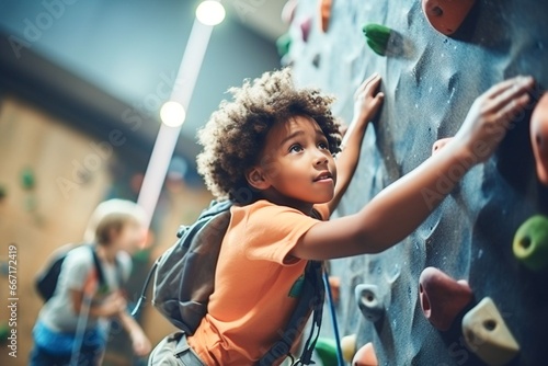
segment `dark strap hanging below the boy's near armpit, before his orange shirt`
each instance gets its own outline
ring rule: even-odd
[[[282,339],[274,343],[269,352],[259,359],[259,366],[270,366],[283,356],[290,356],[292,347],[301,334],[301,330],[309,319],[310,311],[312,311],[312,327],[305,343],[302,354],[296,361],[295,365],[309,365],[311,363],[316,341],[320,334],[323,311],[324,288],[321,276],[323,266],[321,262],[308,262],[305,270],[305,286],[302,287],[302,293],[300,294],[295,311],[289,318],[288,325],[284,330]]]

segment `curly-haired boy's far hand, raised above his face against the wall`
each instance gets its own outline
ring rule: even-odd
[[[385,93],[379,92],[380,76],[369,76],[354,93],[354,119],[358,123],[368,123],[377,114]]]

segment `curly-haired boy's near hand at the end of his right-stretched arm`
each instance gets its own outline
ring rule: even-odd
[[[502,141],[510,124],[529,102],[532,77],[515,77],[491,87],[476,99],[455,142],[463,144],[465,153],[482,162]]]

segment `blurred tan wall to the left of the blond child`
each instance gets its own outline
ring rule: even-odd
[[[70,153],[82,161],[89,155],[89,140],[82,134],[65,128],[56,118],[30,108],[24,102],[4,99],[0,105],[0,184],[5,197],[0,202],[0,261],[8,263],[8,247],[16,245],[18,289],[18,358],[8,356],[2,344],[2,365],[25,365],[32,346],[31,330],[42,300],[33,287],[37,270],[53,249],[82,240],[83,230],[94,206],[111,183],[106,169],[98,169],[93,179],[79,185],[66,199],[57,187],[58,176],[70,176]],[[35,180],[33,188],[22,184],[24,171]],[[0,323],[7,324],[10,313],[8,277],[1,276],[2,297]]]

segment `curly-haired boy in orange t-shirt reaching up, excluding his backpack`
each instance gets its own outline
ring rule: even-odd
[[[381,105],[379,83],[373,76],[358,88],[354,128],[342,151],[332,99],[296,89],[288,69],[232,89],[233,101],[212,115],[199,134],[198,170],[217,198],[235,205],[207,314],[194,334],[161,344],[176,342],[179,364],[254,364],[287,323],[308,261],[377,253],[406,238],[472,165],[491,156],[528,103],[534,81],[517,77],[491,88],[436,155],[357,214],[328,221]],[[163,357],[159,346],[149,363],[170,363]]]

